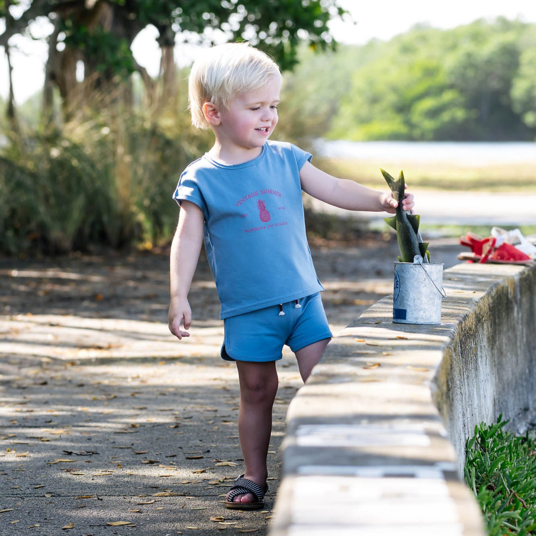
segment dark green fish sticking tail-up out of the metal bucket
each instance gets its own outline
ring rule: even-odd
[[[398,249],[400,250],[399,262],[413,263],[415,255],[419,255],[422,257],[423,263],[429,263],[428,242],[422,242],[419,233],[421,217],[402,209],[402,199],[404,199],[406,187],[403,171],[400,170],[398,178],[395,179],[384,169],[380,168],[379,170],[389,185],[394,199],[398,201],[396,214],[390,218],[385,218],[385,222],[397,232]]]

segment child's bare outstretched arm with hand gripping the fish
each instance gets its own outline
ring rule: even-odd
[[[313,166],[304,163],[300,170],[302,190],[324,203],[346,210],[396,212],[398,202],[392,193],[372,190],[354,181],[333,177]],[[402,207],[413,208],[413,194],[406,192]]]

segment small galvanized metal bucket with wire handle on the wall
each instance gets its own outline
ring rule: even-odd
[[[398,324],[441,324],[443,264],[394,263],[393,322]]]

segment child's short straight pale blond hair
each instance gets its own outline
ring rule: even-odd
[[[271,78],[280,76],[273,59],[249,43],[226,43],[207,49],[193,63],[188,79],[193,126],[209,128],[203,114],[205,102],[228,109],[237,93],[258,90]]]

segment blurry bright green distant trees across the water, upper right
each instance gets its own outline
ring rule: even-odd
[[[536,25],[500,18],[448,31],[416,27],[352,56],[341,50],[348,61],[326,64],[329,89],[318,88],[332,110],[326,137],[532,140],[535,49]]]

